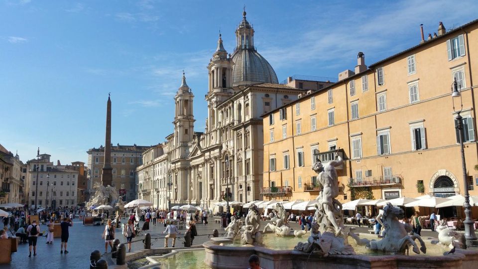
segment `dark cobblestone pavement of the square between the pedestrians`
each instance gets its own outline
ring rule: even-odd
[[[243,219],[242,219],[243,220]],[[124,219],[122,220],[124,223]],[[262,222],[265,224],[266,222]],[[141,223],[142,224],[142,223]],[[262,225],[261,229],[264,225]],[[210,220],[208,225],[197,224],[198,235],[212,234],[214,229],[218,229],[219,233],[224,232],[224,228],[221,228],[219,224],[214,223],[214,220]],[[291,223],[291,227],[294,229],[300,229],[298,223]],[[46,231],[46,226],[41,225],[40,227],[42,232]],[[99,250],[100,252],[105,251],[105,243],[101,238],[103,234],[104,226],[83,226],[82,222],[78,219],[75,219],[74,226],[70,228],[70,238],[68,242],[68,254],[60,254],[60,238],[55,238],[53,244],[45,244],[46,237],[38,238],[37,244],[37,256],[28,258],[28,244],[20,244],[18,246],[18,252],[15,252],[11,256],[10,265],[0,265],[0,269],[75,269],[75,268],[88,268],[90,262],[90,254],[94,250]],[[357,227],[356,232],[367,233],[368,227]],[[162,232],[164,231],[163,224],[157,224],[156,226],[150,225],[150,230],[148,231],[152,234],[152,237],[162,237]],[[183,235],[185,230],[180,230]],[[125,242],[124,236],[122,236],[121,231],[117,230],[117,238],[121,242]],[[422,236],[434,236],[437,237],[436,232],[431,232],[427,230],[422,230]],[[135,240],[142,239],[143,237],[136,237]],[[198,236],[194,239],[194,245],[203,244],[208,241],[207,236]],[[158,240],[154,242],[152,240],[152,248],[161,248],[163,247],[164,241]],[[171,243],[170,243],[171,244]],[[179,240],[176,242],[176,246],[182,246],[182,242]],[[133,243],[131,249],[140,250],[143,248],[141,242]],[[110,251],[110,249],[108,249]]]

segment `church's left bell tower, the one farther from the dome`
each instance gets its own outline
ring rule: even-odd
[[[175,101],[174,113],[174,146],[185,147],[186,150],[180,150],[180,156],[187,153],[188,142],[193,140],[194,135],[194,115],[193,98],[191,88],[186,84],[186,76],[183,71],[183,80],[179,87]],[[187,155],[186,155],[187,156]]]

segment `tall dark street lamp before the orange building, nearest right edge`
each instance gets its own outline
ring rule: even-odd
[[[457,114],[457,117],[455,118],[457,120],[457,126],[455,127],[458,130],[458,136],[460,137],[460,151],[462,155],[462,168],[463,168],[463,181],[465,183],[465,221],[463,222],[465,224],[465,239],[467,241],[467,245],[477,245],[477,235],[475,234],[475,222],[473,221],[473,216],[472,216],[472,206],[470,205],[470,194],[468,193],[468,180],[467,180],[467,163],[465,162],[465,149],[463,146],[463,117],[460,115],[460,113],[463,110],[463,100],[462,100],[462,95],[461,95],[461,89],[462,85],[457,81],[457,78],[455,77],[455,80],[452,83],[452,100],[453,100],[453,110]],[[460,97],[460,108],[457,110],[455,109],[455,99]],[[475,244],[473,244],[475,243]]]

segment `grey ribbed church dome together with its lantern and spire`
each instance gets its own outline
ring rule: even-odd
[[[242,13],[242,21],[236,29],[237,46],[231,56],[234,62],[233,83],[250,84],[256,82],[279,83],[277,75],[267,60],[254,47],[254,29]]]

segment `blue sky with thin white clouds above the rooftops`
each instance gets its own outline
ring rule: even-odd
[[[204,131],[209,58],[221,29],[232,53],[246,5],[255,46],[279,81],[337,77],[425,35],[477,18],[478,1],[0,0],[0,143],[24,161],[41,153],[87,161],[105,143],[112,93],[114,144],[152,145],[172,133],[185,69]]]

